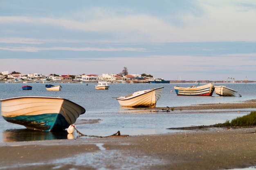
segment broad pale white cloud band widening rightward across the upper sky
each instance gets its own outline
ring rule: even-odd
[[[252,36],[256,30],[256,10],[242,6],[236,0],[197,2],[204,11],[201,15],[170,15],[179,18],[182,26],[176,26],[163,16],[138,14],[129,8],[123,8],[126,12],[120,15],[120,11],[110,7],[106,10],[93,8],[75,11],[70,15],[76,18],[68,19],[2,16],[0,23],[58,26],[66,31],[112,35],[108,40],[97,37],[99,42],[256,41],[256,37]],[[245,2],[256,5],[254,1]]]

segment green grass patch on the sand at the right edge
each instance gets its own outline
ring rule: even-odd
[[[225,126],[256,126],[256,111],[252,111],[248,115],[237,117],[231,121],[227,120],[223,124],[213,125],[214,127],[225,127]]]

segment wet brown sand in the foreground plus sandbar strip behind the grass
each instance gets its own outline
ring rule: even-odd
[[[255,101],[174,109],[256,108]],[[161,108],[154,108],[161,109]],[[170,127],[171,128],[171,127]],[[121,134],[126,135],[126,134]],[[129,135],[129,134],[127,134]],[[223,170],[256,166],[256,127],[0,144],[8,170]]]

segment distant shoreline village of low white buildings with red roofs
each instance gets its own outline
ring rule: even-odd
[[[162,78],[153,77],[152,75],[146,74],[114,74],[114,73],[103,73],[102,75],[96,74],[81,74],[81,75],[43,75],[42,73],[29,73],[22,74],[18,72],[9,73],[9,71],[2,71],[0,73],[0,83],[97,83],[98,81],[108,81],[110,83],[209,83],[209,82],[226,82],[223,81],[212,81],[212,80],[164,80]],[[250,83],[256,81],[235,80],[236,83]]]

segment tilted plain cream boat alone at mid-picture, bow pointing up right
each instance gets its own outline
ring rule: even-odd
[[[144,91],[137,91],[125,97],[118,97],[117,100],[122,107],[149,107],[153,108],[161,97],[164,87],[153,88]]]

